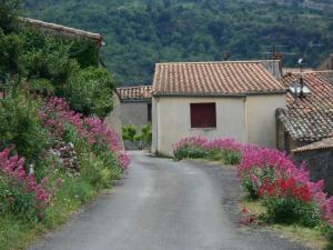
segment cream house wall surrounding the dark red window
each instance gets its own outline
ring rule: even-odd
[[[191,129],[190,103],[215,102],[216,128]],[[172,144],[190,136],[209,139],[233,137],[245,142],[245,102],[243,98],[153,98],[152,152],[172,156]]]

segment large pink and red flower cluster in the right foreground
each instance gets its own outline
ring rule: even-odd
[[[323,191],[324,181],[311,181],[305,164],[296,166],[284,152],[246,147],[238,174],[253,199],[263,199],[271,219],[313,227],[332,223],[333,198]]]

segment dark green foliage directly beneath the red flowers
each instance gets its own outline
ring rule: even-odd
[[[297,223],[313,228],[321,223],[321,211],[313,203],[304,203],[293,198],[271,198],[263,201],[269,221]]]

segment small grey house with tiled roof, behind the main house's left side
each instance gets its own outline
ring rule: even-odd
[[[121,123],[138,128],[151,123],[151,86],[122,87],[117,89],[120,97]]]

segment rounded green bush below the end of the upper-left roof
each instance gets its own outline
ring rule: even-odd
[[[113,108],[113,80],[105,69],[89,67],[71,73],[64,97],[74,110],[104,118]]]

